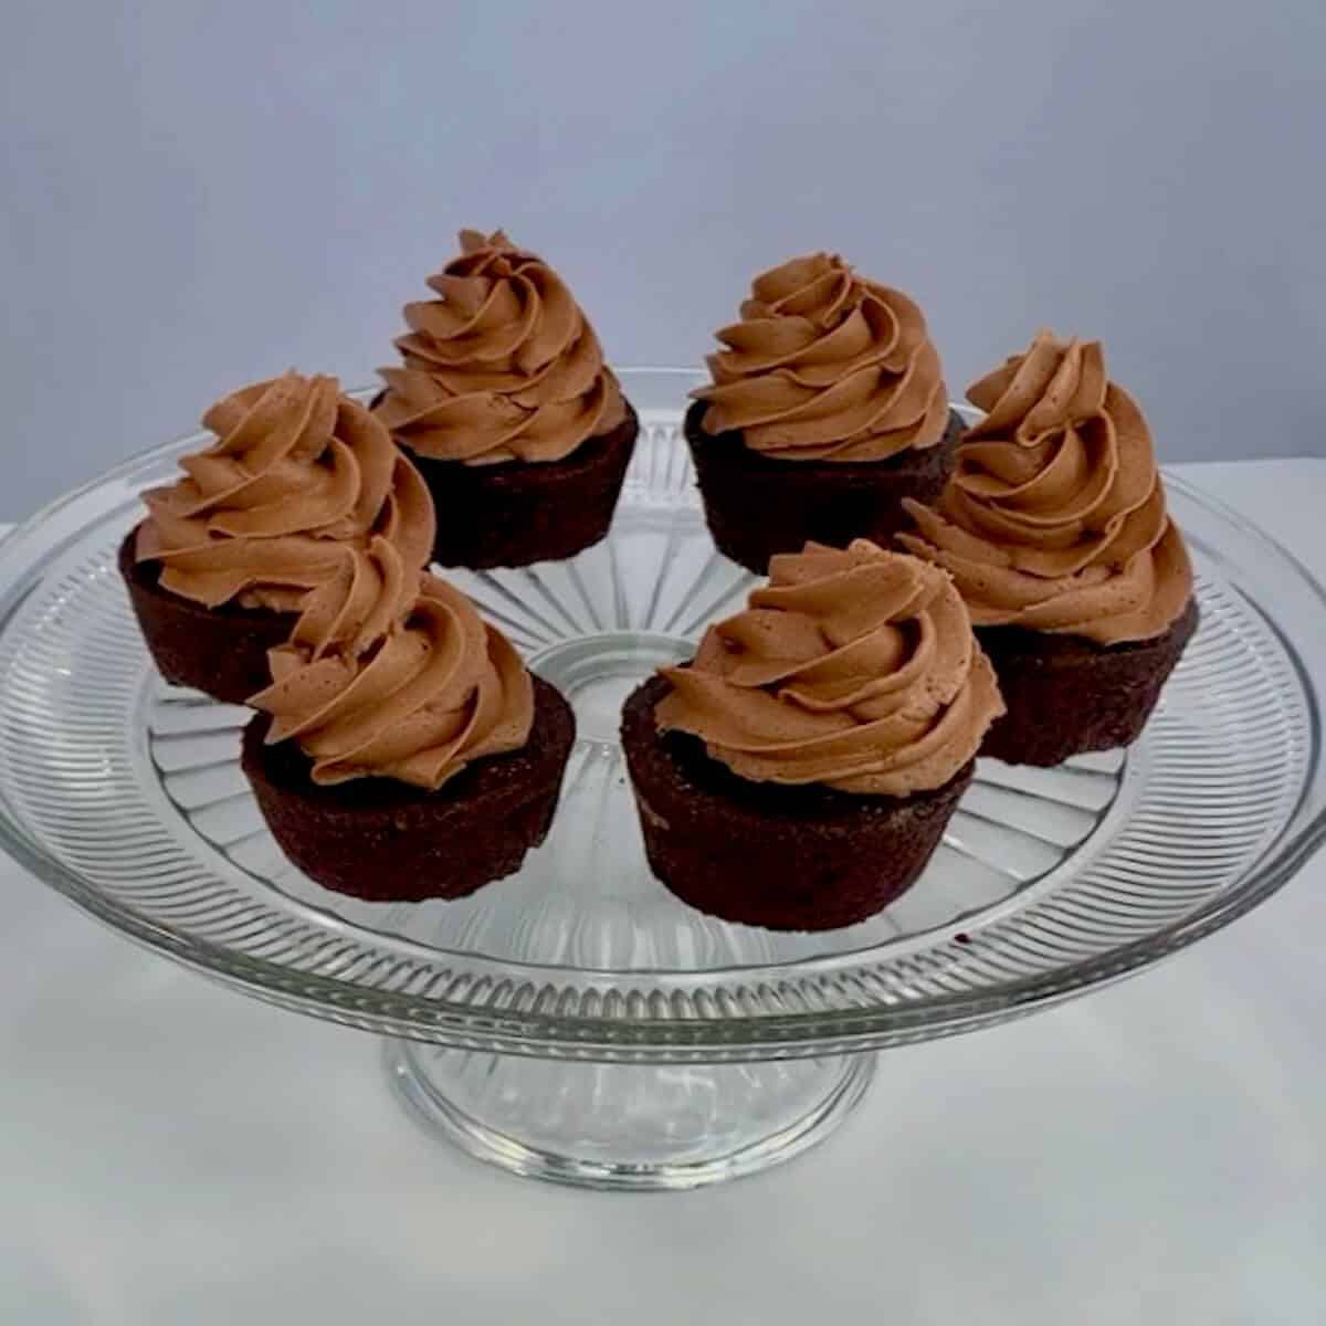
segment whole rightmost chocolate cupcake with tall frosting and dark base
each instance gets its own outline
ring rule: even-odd
[[[984,754],[1053,765],[1127,745],[1197,626],[1151,434],[1098,341],[1041,332],[968,391],[985,418],[899,542],[956,582],[1008,713]]]

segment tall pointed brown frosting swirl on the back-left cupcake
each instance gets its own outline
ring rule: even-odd
[[[460,257],[407,304],[403,369],[377,407],[406,447],[491,465],[562,460],[626,419],[598,337],[562,278],[496,231],[460,232]]]

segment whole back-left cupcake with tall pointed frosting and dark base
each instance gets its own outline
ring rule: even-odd
[[[407,304],[404,366],[374,408],[438,508],[434,560],[525,566],[607,533],[636,419],[561,277],[497,231],[460,232],[460,257]]]

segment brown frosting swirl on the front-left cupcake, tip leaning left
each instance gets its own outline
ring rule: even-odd
[[[471,760],[525,745],[534,688],[511,642],[434,575],[416,582],[402,613],[390,545],[379,541],[369,558],[377,601],[358,593],[365,568],[342,562],[292,640],[268,655],[273,682],[249,700],[272,715],[268,743],[298,741],[316,784],[385,777],[430,790]]]

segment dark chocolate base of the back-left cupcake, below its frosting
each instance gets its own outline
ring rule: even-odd
[[[607,534],[639,420],[630,406],[611,432],[565,460],[467,465],[404,447],[438,512],[434,561],[443,566],[528,566],[558,561]]]

